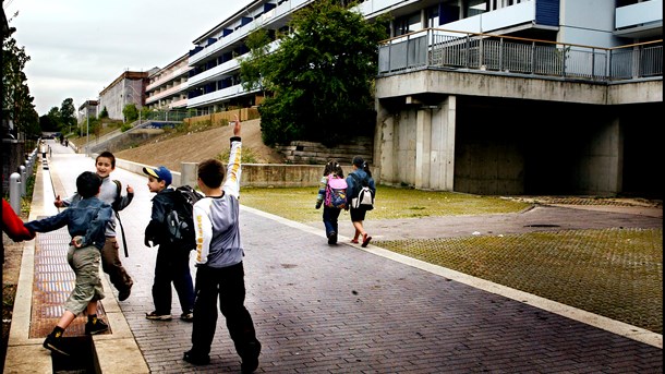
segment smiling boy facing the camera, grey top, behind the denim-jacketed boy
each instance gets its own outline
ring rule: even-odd
[[[124,209],[134,198],[134,189],[131,185],[126,186],[126,195],[122,195],[118,191],[119,186],[111,180],[111,172],[116,170],[116,156],[106,150],[99,154],[95,159],[95,169],[97,176],[101,178],[101,191],[99,200],[110,204],[116,212]],[[78,201],[81,196],[74,193],[65,200],[60,200],[60,195],[56,196],[53,205],[57,207],[70,206]],[[101,250],[101,268],[104,273],[109,275],[111,283],[118,289],[118,300],[126,300],[131,292],[134,281],[132,277],[122,266],[120,256],[118,255],[118,240],[116,239],[116,219],[112,218],[106,228],[106,242]]]

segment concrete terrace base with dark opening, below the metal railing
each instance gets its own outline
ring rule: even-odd
[[[658,118],[662,87],[449,71],[380,79],[376,167],[384,184],[507,195],[616,195],[628,170],[629,185],[654,192],[642,165],[655,150],[643,148],[662,126],[643,122]]]

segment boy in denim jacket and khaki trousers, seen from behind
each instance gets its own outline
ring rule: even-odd
[[[99,258],[106,241],[104,232],[113,217],[113,209],[97,197],[100,186],[101,179],[97,174],[84,171],[76,178],[80,202],[56,216],[25,224],[33,232],[49,232],[66,225],[72,237],[66,261],[76,274],[74,290],[64,304],[65,311],[56,328],[44,340],[44,348],[64,355],[69,353],[62,348],[62,334],[78,313],[87,311],[85,334],[99,334],[109,328],[97,319],[97,300],[104,299]]]

